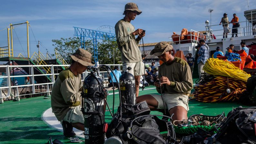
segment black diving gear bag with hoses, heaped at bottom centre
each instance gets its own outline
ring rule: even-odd
[[[114,114],[106,132],[105,144],[120,143],[139,143],[139,144],[169,144],[175,141],[175,132],[171,122],[160,120],[156,116],[148,115],[150,113],[146,101],[135,105],[123,104],[128,110],[120,116],[120,107]],[[123,108],[122,107],[122,108]],[[167,138],[160,134],[167,131]]]

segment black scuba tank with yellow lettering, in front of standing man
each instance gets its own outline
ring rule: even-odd
[[[121,102],[125,104],[134,105],[136,103],[135,95],[135,79],[133,74],[129,73],[128,70],[131,70],[131,67],[127,68],[127,71],[124,72],[119,78],[120,91],[121,91]],[[123,112],[126,112],[125,110]]]

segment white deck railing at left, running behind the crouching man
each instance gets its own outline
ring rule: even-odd
[[[121,64],[106,64],[107,66],[118,66],[119,70],[121,69]],[[56,67],[68,67],[69,65],[0,65],[0,67],[5,68],[5,75],[0,75],[0,79],[5,80],[4,85],[0,85],[0,103],[3,103],[4,99],[9,99],[9,98],[14,98],[16,100],[19,100],[20,96],[25,96],[25,95],[31,95],[31,94],[40,94],[40,93],[50,93],[51,92],[51,85],[54,84],[54,76],[59,75],[59,73],[54,73],[54,68]],[[24,67],[29,67],[30,69],[30,74],[27,75],[12,75],[11,71],[14,68],[24,68]],[[34,74],[34,68],[38,69],[41,67],[50,67],[51,73],[50,74]],[[108,71],[110,72],[110,71]],[[106,73],[108,75],[107,71],[100,71],[99,74],[102,75],[102,79],[106,80],[108,79],[108,76],[104,77],[104,74]],[[84,81],[84,78],[89,74],[89,71],[86,71],[82,74],[82,81]],[[47,83],[35,83],[35,77],[36,76],[48,76],[48,78],[52,82],[47,82]],[[25,85],[14,85],[12,84],[12,80],[17,77],[29,77],[30,83],[25,84]],[[45,77],[45,79],[46,79]],[[46,91],[44,92],[38,92],[36,91],[36,88],[46,86]],[[25,94],[19,94],[20,89],[22,88],[29,88],[31,90],[31,93],[25,93]],[[44,87],[45,88],[45,87]]]

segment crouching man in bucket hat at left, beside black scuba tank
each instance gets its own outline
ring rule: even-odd
[[[84,116],[81,111],[83,88],[81,74],[87,66],[93,65],[91,53],[84,49],[77,49],[70,57],[71,65],[60,72],[51,94],[52,110],[62,123],[64,136],[67,137],[75,135],[73,127],[84,130]]]

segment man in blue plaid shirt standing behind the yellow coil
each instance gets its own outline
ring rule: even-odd
[[[198,51],[197,52],[197,55],[198,55],[197,64],[198,64],[199,78],[201,79],[201,73],[204,72],[203,66],[204,66],[205,62],[207,61],[207,59],[209,58],[209,47],[205,43],[204,40],[200,40],[199,43],[200,43],[201,47],[200,47],[200,49],[197,48],[197,51]]]

